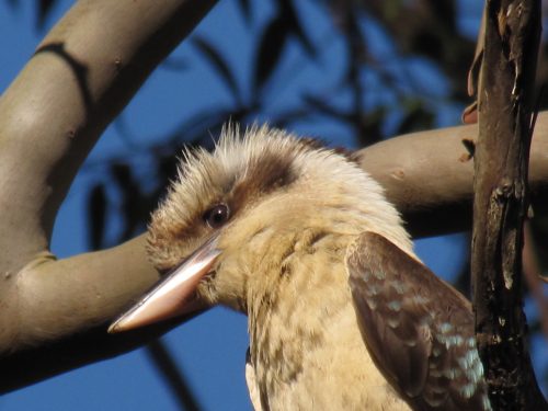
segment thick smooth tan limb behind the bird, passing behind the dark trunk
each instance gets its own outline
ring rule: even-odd
[[[438,236],[471,227],[473,161],[463,141],[478,126],[413,133],[358,151],[362,167],[386,189],[413,237]],[[548,202],[548,113],[537,119],[529,183],[535,213]]]

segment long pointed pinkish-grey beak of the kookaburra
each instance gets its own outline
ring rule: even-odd
[[[119,316],[109,332],[152,324],[203,308],[196,299],[195,289],[219,254],[217,237],[210,238]]]

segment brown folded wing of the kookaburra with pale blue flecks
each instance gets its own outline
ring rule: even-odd
[[[346,254],[367,349],[418,410],[490,410],[469,301],[374,232]]]

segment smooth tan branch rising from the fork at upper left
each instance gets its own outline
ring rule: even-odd
[[[47,250],[89,150],[214,3],[81,0],[44,38],[0,99],[0,272]]]

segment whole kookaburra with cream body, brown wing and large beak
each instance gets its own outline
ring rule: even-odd
[[[491,410],[470,302],[350,151],[228,124],[183,152],[147,251],[165,274],[109,331],[244,313],[255,410]]]

